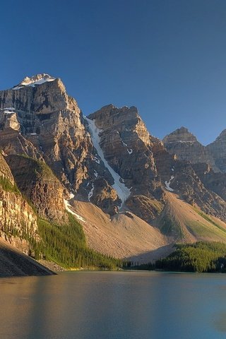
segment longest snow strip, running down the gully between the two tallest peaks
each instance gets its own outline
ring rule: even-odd
[[[102,148],[100,147],[100,136],[99,136],[100,129],[98,129],[97,126],[95,126],[95,120],[88,119],[88,117],[84,117],[84,119],[88,122],[90,136],[100,159],[104,163],[105,167],[107,167],[109,172],[112,174],[112,177],[114,179],[114,184],[112,185],[112,187],[117,191],[117,194],[121,199],[122,206],[122,204],[130,196],[130,189],[128,189],[128,187],[126,187],[125,184],[120,181],[121,177],[119,176],[119,174],[114,171],[114,169],[108,164],[107,160],[105,159],[105,155],[102,151]],[[121,208],[121,206],[119,206],[119,208]]]

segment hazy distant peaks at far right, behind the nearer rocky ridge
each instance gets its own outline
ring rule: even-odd
[[[196,137],[188,131],[188,129],[182,127],[176,131],[170,133],[168,136],[163,138],[163,143],[165,148],[170,154],[174,154],[178,160],[182,160],[184,163],[189,162],[192,169],[197,174],[198,179],[201,180],[207,198],[207,194],[217,194],[218,197],[222,198],[225,201],[226,195],[226,182],[225,182],[225,169],[224,169],[224,145],[225,145],[225,131],[220,133],[220,136],[210,145],[203,146],[201,143],[198,143]],[[225,140],[224,140],[225,139]],[[197,194],[201,198],[201,189],[200,185],[198,186]],[[208,198],[209,202],[213,202],[212,206],[201,206],[202,203],[198,206],[202,207],[207,213],[215,215],[213,209],[218,209],[219,206],[221,212],[218,214],[222,220],[225,220],[225,210],[223,208],[223,202],[219,200],[217,196],[215,198]],[[214,202],[215,201],[215,202]],[[218,207],[217,207],[217,204]],[[210,205],[208,203],[208,205]],[[209,209],[210,208],[210,209]]]

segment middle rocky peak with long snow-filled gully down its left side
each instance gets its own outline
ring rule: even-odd
[[[86,121],[96,156],[111,175],[112,186],[121,200],[118,207],[127,205],[145,220],[153,218],[153,201],[162,197],[153,157],[154,144],[160,141],[150,136],[136,107],[108,105],[90,114]],[[146,206],[143,209],[138,208],[141,201]],[[153,208],[147,216],[148,206]]]

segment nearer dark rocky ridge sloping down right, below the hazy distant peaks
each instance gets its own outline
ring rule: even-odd
[[[177,159],[177,155],[167,153],[165,149],[155,149],[155,164],[166,191],[177,194],[192,206],[198,206],[204,212],[216,215],[222,220],[226,218],[226,203],[218,191],[206,185],[203,165],[211,168],[208,164],[191,164]],[[218,176],[218,173],[213,172]]]

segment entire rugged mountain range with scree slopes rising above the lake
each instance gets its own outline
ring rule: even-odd
[[[59,78],[26,77],[0,91],[1,237],[66,267],[226,242],[223,142],[184,127],[160,141],[136,107],[85,117]]]

